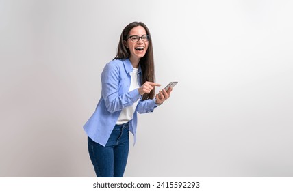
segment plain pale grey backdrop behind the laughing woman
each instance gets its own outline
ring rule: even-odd
[[[179,83],[125,177],[292,177],[292,2],[0,0],[0,177],[94,177],[82,126],[132,21]]]

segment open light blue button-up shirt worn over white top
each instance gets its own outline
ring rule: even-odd
[[[105,65],[101,74],[101,99],[96,110],[84,125],[86,134],[100,145],[106,145],[123,108],[131,106],[139,100],[136,111],[133,113],[133,119],[129,121],[129,130],[134,136],[134,143],[136,143],[137,113],[153,112],[154,108],[157,107],[155,99],[141,100],[142,96],[138,93],[138,89],[129,91],[131,83],[129,73],[132,71],[133,67],[129,59],[114,59]],[[141,75],[142,70],[139,68],[139,85]]]

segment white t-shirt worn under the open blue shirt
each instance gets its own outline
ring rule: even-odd
[[[138,85],[138,68],[133,68],[133,71],[130,72],[130,76],[131,76],[131,83],[130,83],[129,91],[132,91],[133,89],[137,89],[139,87],[139,85]],[[136,111],[136,106],[138,105],[138,101],[133,103],[132,106],[128,106],[126,108],[123,108],[123,110],[121,111],[120,116],[118,117],[118,120],[116,122],[117,125],[127,123],[128,121],[130,121],[132,119],[133,113],[134,113],[134,111]]]

